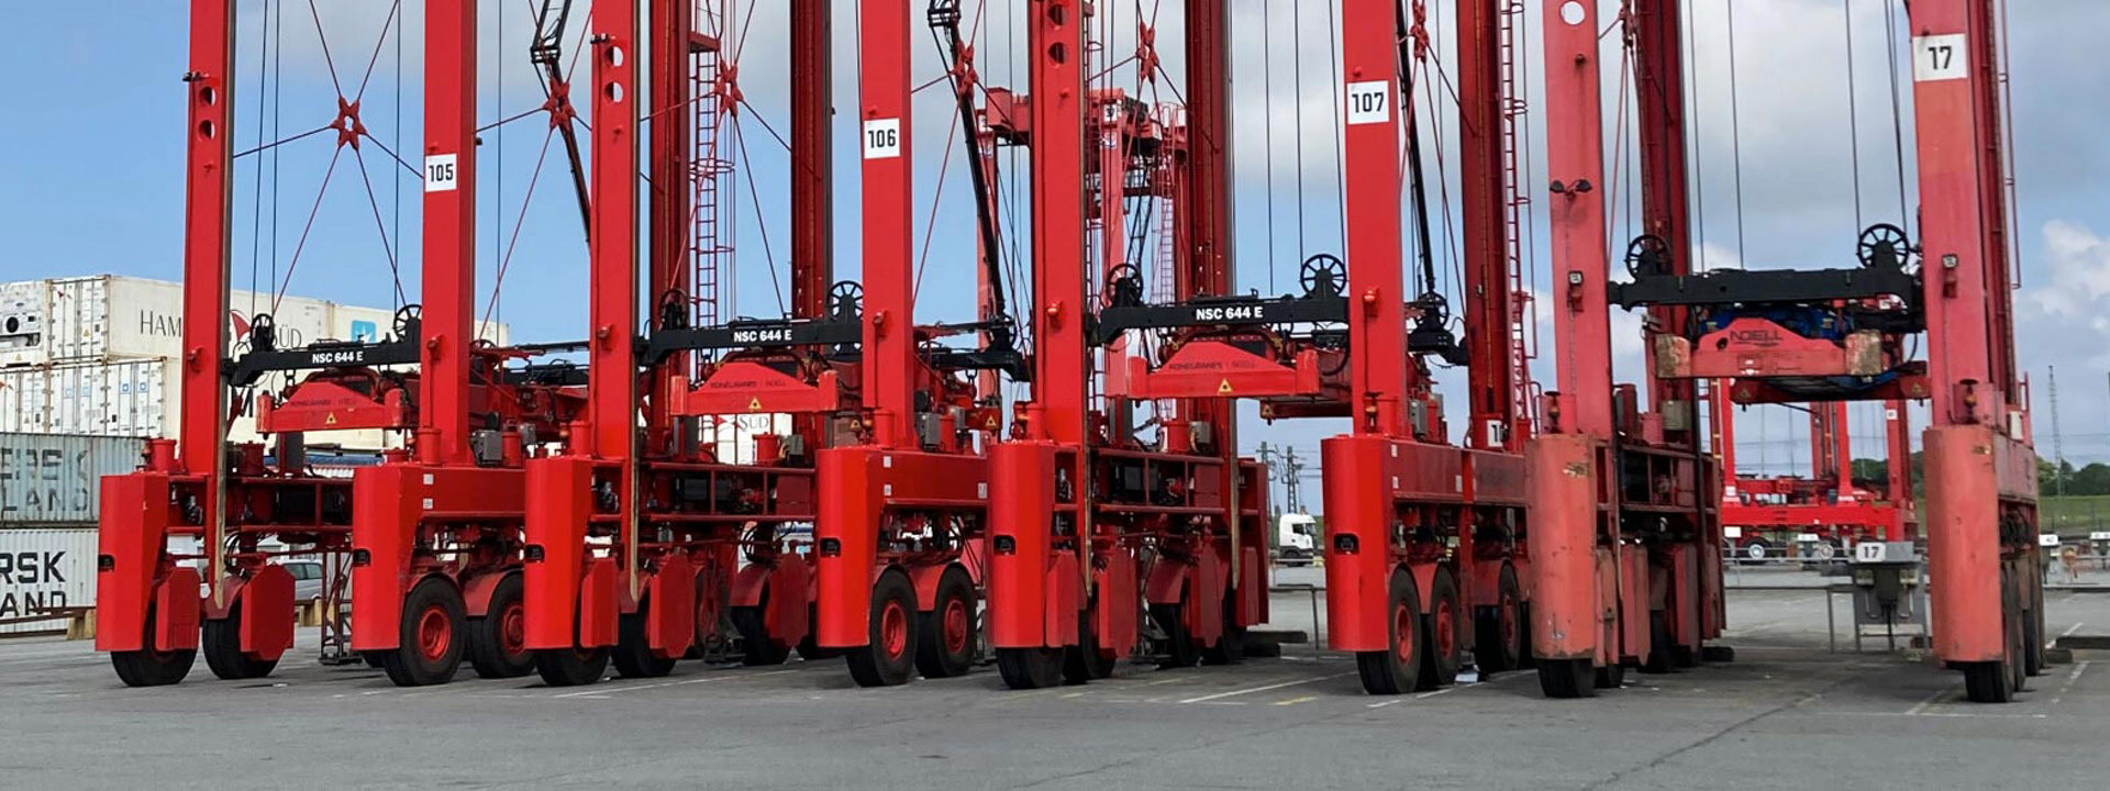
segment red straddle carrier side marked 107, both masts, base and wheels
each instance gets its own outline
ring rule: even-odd
[[[1462,652],[1483,673],[1521,660],[1530,572],[1523,458],[1530,420],[1515,375],[1500,2],[1458,2],[1464,137],[1469,447],[1447,443],[1441,403],[1405,342],[1399,137],[1416,135],[1401,40],[1424,36],[1393,2],[1344,2],[1348,359],[1353,432],[1321,443],[1329,645],[1355,652],[1363,690],[1452,683]],[[1401,38],[1403,36],[1403,38]],[[1412,405],[1412,409],[1409,409]],[[1420,626],[1422,622],[1433,629]],[[1485,643],[1483,643],[1485,641]],[[1431,660],[1424,658],[1428,654]],[[1426,673],[1435,667],[1437,673]]]

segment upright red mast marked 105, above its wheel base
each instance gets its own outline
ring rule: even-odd
[[[468,350],[477,276],[477,4],[424,8],[424,361],[418,367],[418,456],[468,460]]]

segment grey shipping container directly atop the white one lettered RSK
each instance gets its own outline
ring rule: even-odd
[[[0,532],[95,523],[99,481],[135,470],[143,449],[133,437],[0,435]]]

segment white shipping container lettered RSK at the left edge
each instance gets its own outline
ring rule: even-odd
[[[95,525],[0,529],[0,620],[95,605]],[[63,620],[0,624],[0,635],[65,629]]]

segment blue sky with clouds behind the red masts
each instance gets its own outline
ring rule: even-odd
[[[1711,266],[1838,266],[1850,255],[1859,224],[1897,221],[1897,156],[1891,141],[1891,99],[1886,42],[1901,36],[1884,27],[1884,4],[1895,0],[1747,0],[1734,4],[1737,74],[1730,89],[1728,13],[1724,4],[1696,4],[1690,25],[1696,36],[1694,108],[1699,146],[1699,188],[1705,247]],[[281,13],[283,38],[266,34],[264,15]],[[481,118],[498,120],[540,103],[525,61],[528,2],[485,0],[485,97]],[[584,4],[582,4],[584,6]],[[836,2],[836,228],[838,274],[857,272],[857,152],[846,118],[855,116],[855,23],[850,2]],[[968,2],[973,8],[975,4]],[[1110,51],[1133,49],[1131,4],[1106,4],[1114,13],[1114,44]],[[1606,19],[1616,6],[1606,0]],[[2099,86],[2110,84],[2110,61],[2099,55],[2099,32],[2110,30],[2110,8],[2087,0],[2032,0],[2013,4],[2013,91],[2015,91],[2015,173],[2019,184],[2019,249],[2021,293],[2017,295],[2021,359],[2038,380],[2047,365],[2059,365],[2061,439],[2068,458],[2110,460],[2110,409],[2104,371],[2110,369],[2110,146],[2106,103]],[[291,135],[329,120],[333,91],[319,55],[314,19],[306,2],[264,0],[241,2],[245,42],[241,46],[238,105],[264,108],[236,120],[236,148],[255,146],[276,133]],[[357,82],[367,55],[376,53],[384,2],[319,0],[316,17],[329,34],[331,61],[346,82]],[[1017,65],[1015,32],[1006,17],[1009,4],[994,6],[985,19],[981,72],[990,84],[1023,86]],[[1431,4],[1431,25],[1441,61],[1447,61],[1450,2]],[[1853,76],[1846,86],[1846,11],[1853,13]],[[367,89],[363,116],[376,137],[401,152],[414,152],[418,139],[418,17],[422,2],[407,2],[401,32],[390,30],[378,49],[376,76]],[[500,15],[504,19],[500,21]],[[1165,42],[1167,70],[1182,74],[1177,46],[1177,13],[1165,11],[1158,40]],[[1239,278],[1243,287],[1266,289],[1272,274],[1293,281],[1296,262],[1308,253],[1340,251],[1338,219],[1338,148],[1334,143],[1331,97],[1334,53],[1327,4],[1315,2],[1236,2],[1234,4],[1234,152],[1239,200]],[[181,249],[181,99],[179,76],[186,65],[186,4],[30,4],[11,13],[13,44],[0,49],[0,67],[15,74],[13,112],[0,116],[0,230],[11,240],[6,278],[61,274],[137,274],[179,278]],[[785,257],[787,211],[783,190],[785,156],[764,131],[785,129],[785,42],[783,11],[762,4],[743,51],[743,89],[753,103],[745,112],[747,162],[743,162],[736,211],[741,249],[736,312],[774,314],[776,272]],[[1536,19],[1530,27],[1536,27]],[[283,42],[276,57],[276,82],[260,80],[270,65],[260,63],[264,40]],[[1302,40],[1302,46],[1298,44]],[[1616,40],[1616,38],[1614,38]],[[1901,38],[1899,38],[1901,40]],[[403,72],[397,72],[397,44],[403,46]],[[572,46],[568,38],[568,46]],[[1608,40],[1610,42],[1610,40]],[[916,74],[939,76],[933,51],[918,38]],[[1528,99],[1540,105],[1536,34],[1530,36],[1526,67]],[[1608,65],[1618,61],[1608,51]],[[502,63],[502,65],[500,65]],[[1608,67],[1608,72],[1616,72]],[[403,91],[397,76],[409,74]],[[1447,65],[1445,65],[1445,72]],[[504,82],[500,89],[498,82]],[[1616,80],[1616,74],[1608,74]],[[270,99],[257,103],[257,89],[274,86],[279,110]],[[346,86],[350,91],[350,86]],[[1608,89],[1608,116],[1614,114],[1616,89]],[[395,105],[403,101],[403,118]],[[918,228],[941,194],[939,217],[931,236],[931,264],[920,319],[962,319],[968,306],[973,236],[968,228],[966,181],[958,160],[950,167],[943,192],[937,171],[950,127],[950,97],[943,89],[918,95],[918,118],[912,129],[918,156]],[[1853,110],[1848,110],[1853,108]],[[1910,118],[1910,84],[1905,91]],[[1426,105],[1424,105],[1426,112]],[[1447,99],[1437,99],[1435,112],[1452,112]],[[260,131],[255,124],[264,122]],[[1302,124],[1300,124],[1302,120]],[[1547,135],[1542,118],[1534,116],[1534,148]],[[1302,148],[1298,131],[1302,127]],[[546,124],[528,118],[485,135],[479,259],[483,285],[492,283],[502,249],[517,251],[509,264],[498,316],[513,323],[519,340],[559,340],[582,333],[584,327],[584,247],[576,209],[568,194],[568,173],[551,158],[540,175],[534,202],[521,209],[528,179]],[[1431,129],[1431,143],[1450,146],[1456,135],[1447,120]],[[1910,179],[1910,127],[1905,173]],[[1616,131],[1608,139],[1618,139]],[[956,146],[958,148],[958,146]],[[270,281],[272,262],[279,272],[293,259],[293,247],[316,194],[323,165],[329,158],[325,137],[281,148],[276,173],[270,156],[243,158],[236,171],[234,272],[236,285],[251,283],[251,266],[260,281]],[[1302,152],[1302,179],[1298,154]],[[416,295],[418,249],[418,184],[386,154],[365,146],[367,177],[373,179],[376,205],[367,202],[357,165],[340,162],[333,184],[321,205],[316,228],[302,247],[300,268],[289,283],[291,293],[327,297],[348,304],[390,304],[395,287],[388,276],[388,251],[401,245],[403,287]],[[405,154],[409,156],[409,154]],[[958,156],[958,154],[954,154]],[[1542,162],[1534,150],[1532,158]],[[1859,167],[1855,165],[1859,160]],[[1741,190],[1737,188],[1741,171]],[[753,192],[747,186],[753,177]],[[1536,171],[1534,171],[1536,173]],[[1861,179],[1859,211],[1853,196],[1853,175]],[[257,177],[262,175],[262,188]],[[276,190],[272,188],[276,175]],[[1447,192],[1456,196],[1456,173],[1445,171]],[[1526,184],[1540,177],[1530,175]],[[1302,184],[1302,190],[1300,190]],[[401,211],[399,192],[401,190]],[[1739,198],[1741,192],[1741,198]],[[276,198],[272,198],[276,194]],[[260,200],[260,196],[264,196]],[[1916,200],[1916,192],[1912,194]],[[1741,234],[1732,207],[1743,205]],[[276,253],[272,251],[272,209],[276,207]],[[757,211],[760,207],[760,211]],[[376,209],[392,243],[382,245],[376,232]],[[1302,209],[1302,234],[1298,215]],[[1857,221],[1859,213],[1859,221]],[[757,224],[755,217],[772,217]],[[525,224],[519,219],[525,217]],[[1272,217],[1272,221],[1270,221]],[[1625,215],[1623,215],[1625,217]],[[1625,221],[1616,217],[1614,221]],[[1454,221],[1454,217],[1452,217]],[[1542,219],[1532,221],[1540,236]],[[764,236],[772,255],[764,255]],[[1302,245],[1300,245],[1302,236]],[[1614,230],[1623,238],[1623,230]],[[1536,240],[1536,238],[1534,238]],[[1439,243],[1439,249],[1447,243]],[[922,249],[922,238],[918,238]],[[1542,245],[1536,245],[1545,270]],[[1270,266],[1272,262],[1272,266]],[[1542,281],[1542,276],[1540,276]],[[1287,289],[1287,285],[1283,285]],[[481,302],[481,300],[479,300]],[[1637,375],[1635,350],[1639,337],[1623,323],[1620,378]],[[1551,335],[1542,337],[1551,344]],[[1551,375],[1551,369],[1542,371]],[[1452,403],[1460,373],[1445,373]],[[1861,420],[1863,413],[1855,418]],[[1462,418],[1460,418],[1462,420]],[[1796,449],[1804,447],[1791,428],[1800,420],[1787,413],[1747,411],[1739,418],[1743,460],[1766,468],[1794,468]],[[1874,428],[1863,420],[1857,435]],[[2051,456],[2049,411],[2038,409],[2036,426],[2045,454]],[[1241,439],[1289,443],[1317,456],[1317,439],[1338,430],[1325,422],[1262,426],[1249,420]],[[1857,437],[1874,449],[1876,435]],[[1859,454],[1857,454],[1859,456]],[[1869,454],[1874,456],[1874,454]]]

